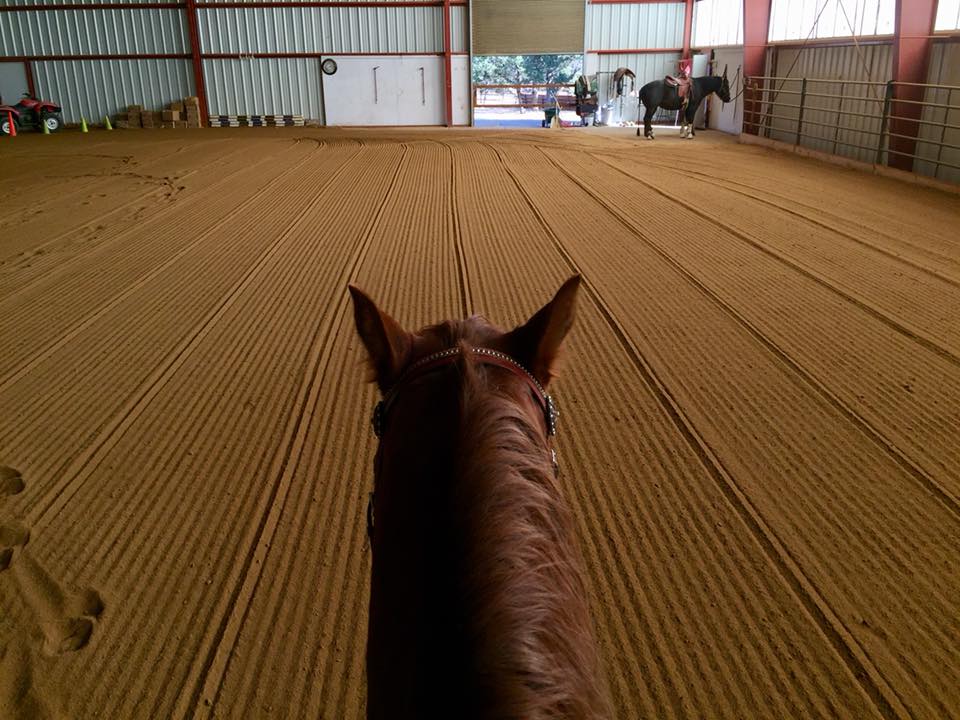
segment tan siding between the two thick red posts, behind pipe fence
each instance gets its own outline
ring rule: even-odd
[[[795,60],[796,64],[794,64]],[[791,66],[793,66],[792,69]],[[793,93],[800,91],[800,78],[808,78],[803,115],[805,137],[801,140],[801,144],[814,150],[873,162],[879,140],[877,133],[880,131],[884,87],[849,82],[842,84],[842,81],[869,80],[883,83],[890,78],[891,69],[892,52],[889,45],[868,45],[861,47],[859,52],[852,45],[804,50],[780,48],[777,50],[774,75],[785,77],[789,71],[789,77],[796,80],[786,83],[776,82],[776,86],[784,91],[778,102],[799,104],[800,96]],[[812,79],[835,82],[809,82]],[[840,95],[841,92],[842,101],[840,98],[818,97],[818,95]],[[839,116],[837,111],[840,109],[869,117]],[[779,106],[775,114],[786,119],[771,121],[770,137],[784,142],[794,142],[799,109]]]

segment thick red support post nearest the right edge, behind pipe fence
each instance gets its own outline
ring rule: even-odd
[[[893,81],[894,83],[925,83],[930,66],[930,50],[933,47],[933,25],[937,18],[937,0],[897,0],[893,29]],[[922,105],[898,100],[923,101],[924,89],[912,85],[893,86],[893,102],[890,104],[891,119],[888,127],[890,152],[887,164],[901,170],[913,170],[916,152],[916,137],[920,131]],[[898,119],[906,118],[906,119]],[[896,137],[906,135],[908,137]],[[909,138],[909,139],[908,139]],[[897,153],[906,153],[899,155]]]

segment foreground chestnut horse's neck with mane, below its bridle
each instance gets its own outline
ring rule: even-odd
[[[374,548],[368,659],[377,662],[371,655],[387,646],[413,649],[380,668],[368,663],[371,693],[392,674],[402,681],[388,696],[428,687],[437,716],[456,700],[476,708],[461,717],[598,717],[598,660],[572,522],[542,420],[532,403],[497,393],[529,397],[502,370],[465,365],[461,397],[451,402],[447,388],[437,393],[445,401],[424,404],[439,410],[410,434],[413,447],[396,464],[402,477],[389,478],[406,486],[398,492],[407,517],[405,527],[377,528],[390,537]],[[382,507],[378,525],[399,509]],[[420,700],[411,716],[431,716],[417,705],[426,692],[412,692]],[[395,698],[385,713],[392,707],[394,717]]]

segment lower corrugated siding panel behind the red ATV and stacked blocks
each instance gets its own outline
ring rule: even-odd
[[[160,110],[193,95],[189,60],[43,61],[33,64],[37,92],[63,107],[64,120],[102,120],[143,105]]]

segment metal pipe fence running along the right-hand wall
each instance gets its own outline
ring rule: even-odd
[[[909,88],[914,97],[923,93],[924,99],[896,97],[898,86]],[[945,102],[931,102],[931,99],[940,100],[941,94],[946,95]],[[786,97],[781,99],[781,96]],[[960,101],[960,86],[955,85],[754,76],[744,78],[743,125],[765,137],[774,134],[789,137],[794,145],[804,141],[807,141],[804,144],[821,143],[831,147],[834,154],[839,148],[860,150],[868,153],[876,164],[890,164],[891,156],[911,158],[914,167],[917,163],[929,163],[936,177],[941,168],[960,170],[960,160],[951,162],[953,155],[950,160],[943,156],[944,150],[960,150],[960,145],[947,138],[948,130],[960,130],[960,124],[949,122],[952,113],[954,119],[960,118],[957,101]],[[917,117],[907,117],[910,108],[915,109]],[[904,134],[902,126],[910,123],[916,123],[917,128],[928,128],[928,134]],[[810,128],[824,131],[817,134]],[[940,129],[939,133],[936,128]],[[842,132],[854,137],[841,137]],[[911,149],[911,144],[912,151],[907,152],[904,148]],[[931,148],[936,148],[935,154]]]

